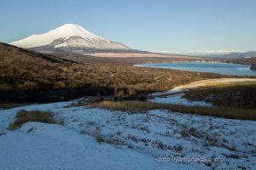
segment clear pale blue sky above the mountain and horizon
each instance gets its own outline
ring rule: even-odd
[[[75,23],[150,51],[256,50],[255,0],[1,0],[0,42]]]

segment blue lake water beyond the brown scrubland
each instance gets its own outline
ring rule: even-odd
[[[256,76],[256,71],[250,69],[251,65],[239,65],[233,63],[218,62],[178,62],[178,63],[154,63],[137,66],[176,69],[181,71],[213,72],[224,75]]]

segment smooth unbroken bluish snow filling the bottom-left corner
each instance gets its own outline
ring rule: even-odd
[[[160,163],[125,146],[99,144],[67,127],[39,122],[26,123],[0,136],[0,144],[1,169],[191,169]]]

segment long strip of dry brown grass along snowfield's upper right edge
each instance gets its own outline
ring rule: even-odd
[[[204,106],[186,106],[157,104],[149,101],[102,101],[92,103],[91,105],[114,111],[126,111],[137,113],[155,109],[164,109],[180,113],[189,113],[202,116],[218,116],[230,119],[256,120],[255,110],[237,109],[231,107],[204,107]]]

